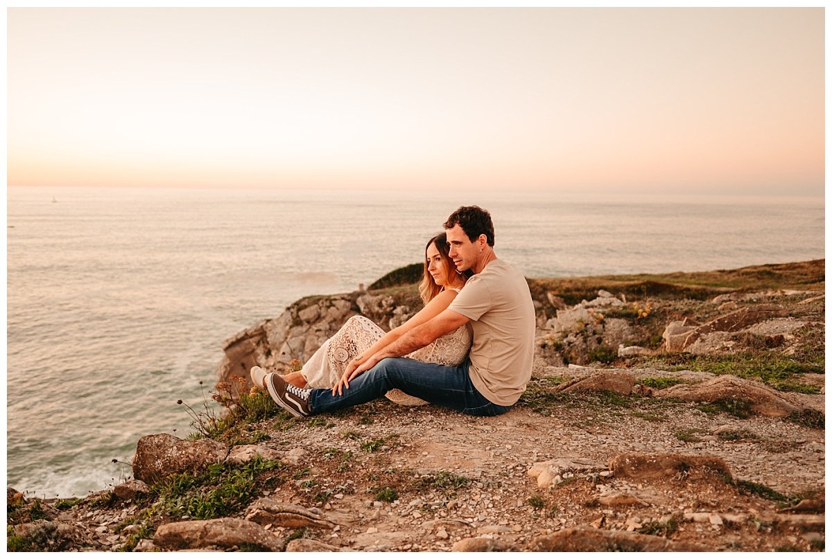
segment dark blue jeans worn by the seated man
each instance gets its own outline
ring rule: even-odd
[[[468,377],[471,362],[465,359],[456,367],[422,363],[415,359],[395,357],[382,359],[373,369],[360,374],[344,388],[340,396],[333,396],[331,388],[314,388],[310,393],[312,413],[332,412],[381,398],[388,390],[422,398],[444,408],[468,415],[500,415],[511,406],[491,403],[474,388]]]

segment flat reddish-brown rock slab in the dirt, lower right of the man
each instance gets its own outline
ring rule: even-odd
[[[698,477],[710,472],[722,472],[730,476],[725,460],[716,456],[683,456],[681,454],[624,453],[610,460],[610,469],[616,477],[657,479],[661,477]]]

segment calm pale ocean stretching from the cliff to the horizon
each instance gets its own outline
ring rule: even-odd
[[[820,198],[12,186],[7,485],[119,482],[138,438],[193,431],[176,400],[205,401],[223,340],[420,261],[463,204],[491,211],[527,277],[824,258]]]

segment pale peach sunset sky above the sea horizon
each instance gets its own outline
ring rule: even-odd
[[[10,186],[824,194],[824,10],[10,8]]]

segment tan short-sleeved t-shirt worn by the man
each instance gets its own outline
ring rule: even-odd
[[[511,406],[532,377],[534,304],[526,278],[503,260],[473,275],[448,306],[471,319],[468,375],[492,403]]]

